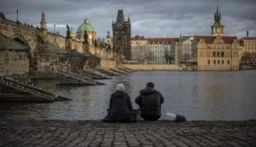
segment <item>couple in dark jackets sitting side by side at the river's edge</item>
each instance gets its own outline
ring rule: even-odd
[[[136,113],[132,110],[132,102],[129,95],[124,91],[122,83],[117,84],[116,91],[110,98],[110,108],[107,116],[103,119],[105,122],[135,122]],[[139,96],[135,102],[139,105],[142,112],[142,118],[148,121],[154,121],[161,117],[161,104],[164,97],[154,89],[154,83],[146,83],[146,88],[139,91]]]

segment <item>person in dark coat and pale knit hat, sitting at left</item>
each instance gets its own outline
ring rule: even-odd
[[[105,122],[135,122],[136,116],[132,113],[132,102],[129,95],[124,92],[122,83],[117,84],[116,91],[110,98],[110,108],[107,116],[103,119]]]

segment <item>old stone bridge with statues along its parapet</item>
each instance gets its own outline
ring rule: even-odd
[[[55,69],[82,70],[100,65],[100,60],[112,59],[112,50],[85,45],[81,40],[48,32],[42,13],[41,27],[0,17],[0,34],[19,42],[28,49],[29,73],[34,77],[52,77]],[[67,35],[69,36],[69,35]],[[77,53],[74,53],[77,52]],[[81,63],[82,61],[82,63]],[[14,67],[15,68],[15,67]]]

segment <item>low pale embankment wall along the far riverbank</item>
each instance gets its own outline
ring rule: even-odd
[[[196,71],[196,65],[185,64],[122,64],[136,71]]]

